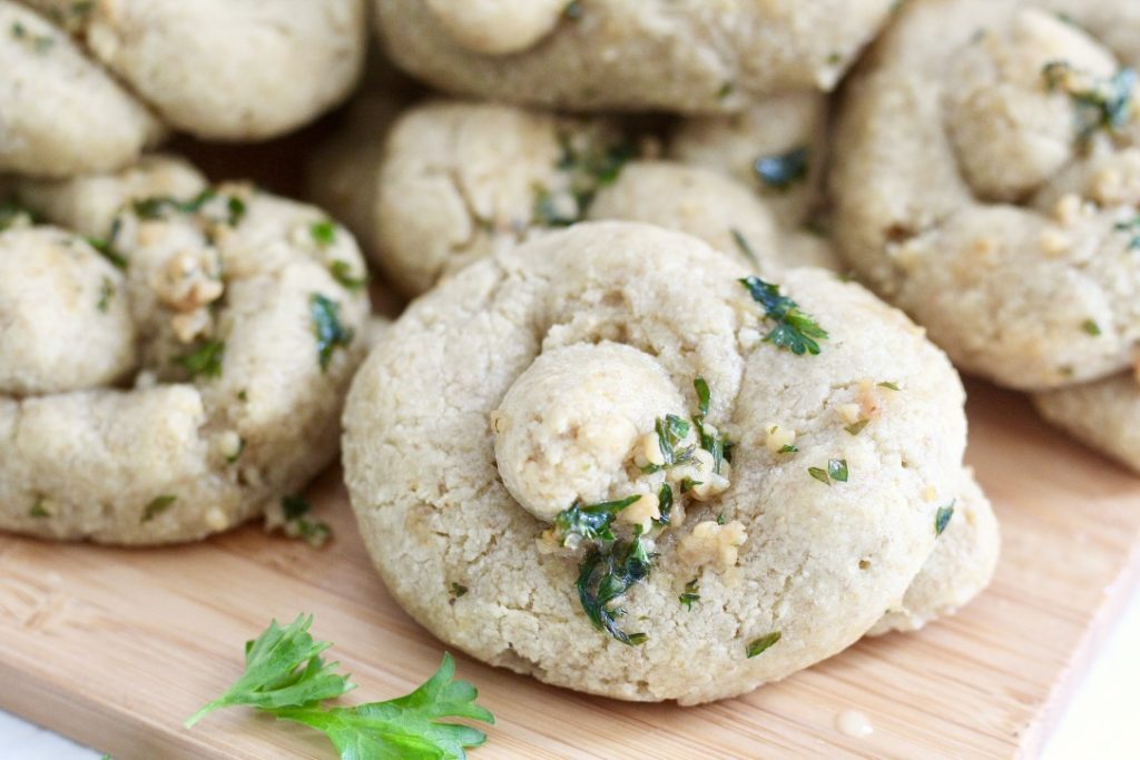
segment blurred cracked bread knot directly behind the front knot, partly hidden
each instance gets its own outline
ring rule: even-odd
[[[689,232],[760,271],[785,264],[839,268],[830,245],[801,229],[817,199],[819,171],[787,193],[765,191],[752,172],[758,157],[799,146],[822,155],[821,96],[775,98],[736,116],[685,120],[671,139],[675,157],[630,163],[638,141],[616,120],[434,101],[400,114],[385,136],[391,112],[366,105],[386,117],[375,120],[383,126],[321,154],[314,196],[327,198],[334,212],[363,230],[369,253],[409,295],[578,219],[645,221]],[[641,153],[652,154],[644,142]],[[620,156],[619,171],[598,181],[592,167],[613,165],[612,156]],[[340,189],[350,181],[355,193]]]

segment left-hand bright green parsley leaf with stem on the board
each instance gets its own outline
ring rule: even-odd
[[[312,615],[298,615],[282,628],[274,620],[255,640],[245,644],[245,672],[225,694],[186,721],[189,728],[219,708],[245,704],[263,710],[300,708],[332,700],[356,688],[326,663],[320,653],[332,646],[309,635]]]

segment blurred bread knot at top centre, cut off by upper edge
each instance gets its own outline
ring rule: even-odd
[[[433,87],[568,109],[741,111],[831,90],[889,0],[375,0],[389,55]]]

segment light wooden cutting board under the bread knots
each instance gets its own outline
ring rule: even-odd
[[[498,718],[479,758],[1033,755],[1127,598],[1140,479],[974,385],[969,459],[996,504],[993,587],[917,635],[865,640],[736,700],[682,709],[544,686],[459,656]],[[355,675],[352,701],[404,694],[443,646],[373,573],[340,485],[310,497],[335,530],[321,550],[258,526],[198,546],[120,550],[0,537],[0,708],[120,760],[333,758],[324,737],[249,710],[182,720],[241,672],[270,618],[314,634]],[[857,709],[874,733],[852,738]]]

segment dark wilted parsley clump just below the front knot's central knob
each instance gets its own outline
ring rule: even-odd
[[[594,628],[605,630],[622,644],[636,646],[649,640],[646,634],[627,634],[618,626],[625,610],[612,604],[633,586],[645,580],[652,569],[641,536],[595,546],[578,566],[578,599]]]

